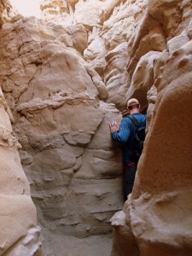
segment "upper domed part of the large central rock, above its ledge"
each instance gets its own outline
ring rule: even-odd
[[[37,26],[41,24],[38,20],[34,20],[35,22]],[[51,26],[41,27],[42,31],[35,30],[29,19],[26,19],[22,24],[16,23],[15,28],[12,27],[13,40],[9,40],[7,47],[12,50],[12,56],[15,55],[15,61],[8,61],[8,65],[2,70],[2,79],[3,84],[5,84],[4,87],[6,87],[5,90],[15,98],[15,102],[19,98],[21,99],[20,101],[30,101],[33,88],[35,88],[33,92],[35,97],[39,95],[39,90],[41,90],[42,96],[44,95],[43,97],[47,97],[54,95],[59,88],[61,90],[70,88],[78,92],[87,90],[90,96],[99,96],[100,92],[98,90],[102,88],[102,94],[105,96],[101,96],[101,99],[106,99],[108,93],[104,84],[102,84],[102,79],[96,77],[96,73],[88,74],[87,67],[84,66],[84,61],[81,60],[79,55],[73,49],[67,48],[65,44],[58,41],[55,27],[53,29]],[[20,52],[18,52],[18,49],[12,48],[12,44],[16,40],[14,31],[18,32],[18,39],[22,38],[20,43],[24,43],[19,43],[18,45]],[[26,33],[23,33],[23,31],[26,31]],[[43,38],[41,38],[42,33],[44,35]],[[6,38],[6,34],[4,37]],[[57,40],[54,41],[55,37]],[[42,40],[41,44],[39,40]],[[28,44],[25,44],[26,41],[28,41]],[[6,44],[5,42],[7,41],[5,40],[3,44]],[[70,70],[70,73],[68,70]],[[9,73],[11,81],[8,78],[5,79],[4,74],[6,71]],[[49,76],[47,75],[48,73]],[[91,79],[95,81],[94,84]],[[13,91],[13,80],[15,85],[19,86],[19,90]],[[7,84],[10,83],[12,87],[7,89]],[[30,88],[26,94],[28,83]],[[42,83],[44,83],[44,87],[39,89]],[[54,87],[52,86],[53,83],[55,84]]]

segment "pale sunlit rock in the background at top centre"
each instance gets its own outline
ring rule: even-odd
[[[44,1],[41,3],[44,6]],[[49,0],[47,3],[51,8],[57,6],[55,1]],[[148,1],[63,1],[63,6],[65,3],[71,11],[63,15],[57,13],[54,18],[50,9],[46,8],[43,16],[47,20],[55,19],[64,26],[82,24],[89,31],[84,60],[102,77],[108,88],[108,102],[113,102],[119,110],[124,110],[126,92],[131,84],[130,73],[126,68],[130,60],[129,48],[132,48],[135,30],[143,19]],[[154,50],[165,49],[165,38],[158,26],[150,37],[153,34],[157,38],[153,39]],[[160,42],[156,43],[157,40]],[[141,52],[137,56],[140,57]],[[146,96],[139,97],[144,106]]]

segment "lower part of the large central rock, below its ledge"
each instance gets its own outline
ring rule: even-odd
[[[33,190],[33,196],[37,200],[39,196],[47,198],[45,199],[46,206],[38,204],[44,212],[44,218],[39,217],[40,221],[46,222],[47,228],[50,226],[56,228],[59,225],[56,230],[65,226],[66,235],[76,234],[76,236],[82,237],[96,235],[104,230],[104,232],[108,232],[110,230],[108,218],[111,216],[110,209],[113,208],[114,203],[108,204],[107,201],[103,201],[102,195],[107,193],[109,201],[117,197],[116,200],[121,202],[121,179],[118,177],[121,173],[121,168],[119,168],[121,166],[120,151],[117,148],[116,153],[112,154],[108,133],[108,121],[112,116],[105,113],[107,112],[105,105],[101,107],[102,110],[96,100],[90,99],[88,96],[83,97],[83,95],[79,95],[79,98],[67,96],[65,99],[64,97],[62,103],[60,99],[59,105],[47,105],[48,102],[46,102],[46,105],[40,106],[39,103],[39,100],[34,102],[33,108],[32,102],[23,103],[18,108],[18,111],[25,114],[26,119],[33,116],[32,119],[39,120],[38,123],[33,123],[32,127],[30,123],[24,122],[23,126],[20,126],[19,121],[15,128],[16,130],[21,129],[20,142],[23,149],[27,150],[27,154],[32,156],[32,163],[23,161],[26,173],[32,181],[32,187],[38,186],[46,190],[49,184],[49,189],[52,190],[52,195],[48,198],[44,193],[37,194],[38,191]],[[49,110],[51,108],[52,110]],[[80,112],[79,109],[81,109]],[[37,110],[38,113],[36,113]],[[101,110],[102,113],[100,113]],[[54,111],[54,120],[49,111]],[[102,121],[104,114],[107,117]],[[117,112],[114,114],[116,116]],[[44,116],[43,123],[39,119],[40,116]],[[98,125],[100,128],[96,130]],[[41,127],[44,127],[44,131]],[[26,138],[27,143],[25,143]],[[34,149],[30,149],[29,146]],[[82,146],[87,149],[81,148]],[[112,182],[108,181],[109,177],[113,177]],[[63,187],[62,191],[60,191],[61,186]],[[114,195],[111,195],[113,193]],[[87,195],[89,196],[87,197]],[[69,200],[65,202],[66,196],[69,197]],[[87,201],[89,207],[82,208],[81,204],[77,204],[75,202],[77,196],[78,201]],[[61,201],[54,200],[57,197],[61,198]],[[95,197],[101,207],[99,211],[97,203],[96,205],[93,203]],[[63,210],[57,212],[58,203],[61,205],[62,201]],[[115,206],[117,209],[117,203]],[[72,207],[73,211],[69,210]],[[118,204],[118,209],[119,207]],[[77,217],[77,212],[81,212],[79,217]],[[76,218],[71,218],[72,214]],[[85,219],[84,216],[86,216]]]

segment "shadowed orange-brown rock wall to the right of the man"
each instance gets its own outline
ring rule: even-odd
[[[158,21],[166,47],[154,51],[147,36],[146,52],[141,29],[131,49],[127,97],[145,96],[148,91],[148,136],[133,193],[123,211],[112,218],[113,256],[189,256],[192,252],[191,17],[189,1],[149,1],[141,27],[150,24],[153,30]],[[139,49],[143,53],[138,60]]]

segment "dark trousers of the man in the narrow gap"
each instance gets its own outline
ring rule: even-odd
[[[124,170],[125,200],[127,200],[127,195],[131,194],[132,192],[136,171],[137,171],[137,166],[125,166],[125,170]]]

